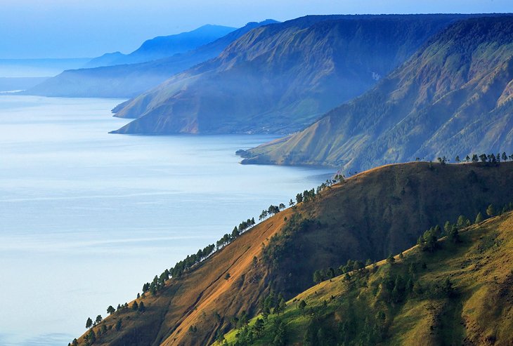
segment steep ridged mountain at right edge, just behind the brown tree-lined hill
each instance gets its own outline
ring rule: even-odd
[[[344,171],[513,150],[513,16],[471,18],[436,34],[371,91],[304,131],[241,152],[252,164]]]

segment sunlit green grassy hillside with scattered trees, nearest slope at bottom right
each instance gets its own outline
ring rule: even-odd
[[[436,245],[323,281],[216,345],[512,345],[513,213]]]

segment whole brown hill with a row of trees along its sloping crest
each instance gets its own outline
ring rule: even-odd
[[[380,260],[413,246],[429,227],[456,222],[460,214],[474,220],[478,213],[486,215],[488,204],[502,210],[512,199],[512,179],[513,162],[415,162],[354,175],[315,197],[301,194],[303,202],[226,246],[221,242],[212,255],[198,251],[193,256],[205,259],[189,270],[177,270],[183,268],[177,264],[168,280],[162,273],[161,288],[153,286],[153,293],[146,288],[143,297],[92,328],[94,345],[209,345],[237,324],[233,317],[254,317],[271,289],[293,298],[313,285],[316,270],[349,259]],[[143,302],[145,311],[132,309],[134,302]],[[86,345],[84,337],[79,345]]]

